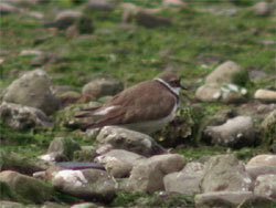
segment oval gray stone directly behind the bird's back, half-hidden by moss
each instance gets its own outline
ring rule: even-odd
[[[115,95],[123,90],[123,83],[117,79],[102,77],[96,79],[87,83],[82,94],[89,95],[95,98],[99,98],[106,95]]]

